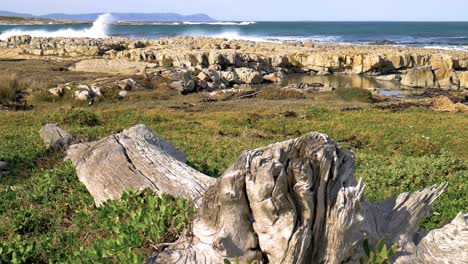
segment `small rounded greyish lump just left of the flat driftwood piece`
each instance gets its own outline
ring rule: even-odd
[[[41,128],[39,135],[44,141],[46,148],[51,150],[66,149],[73,141],[73,136],[60,128],[57,124],[47,124]]]

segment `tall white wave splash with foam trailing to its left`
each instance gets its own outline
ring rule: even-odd
[[[103,14],[93,22],[90,28],[67,28],[55,31],[11,29],[0,34],[0,39],[6,40],[11,36],[18,35],[30,35],[32,37],[105,38],[107,37],[107,31],[111,23],[112,16],[110,14]]]

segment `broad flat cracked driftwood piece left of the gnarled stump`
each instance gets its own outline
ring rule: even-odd
[[[78,177],[94,197],[96,205],[119,199],[129,189],[151,189],[193,200],[215,179],[185,162],[185,154],[158,138],[144,125],[137,125],[100,141],[70,146]]]

